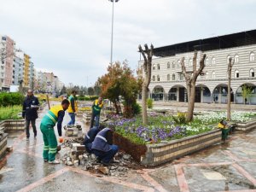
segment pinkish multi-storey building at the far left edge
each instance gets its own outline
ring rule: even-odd
[[[14,47],[13,39],[0,35],[0,90],[9,90],[13,83]]]

